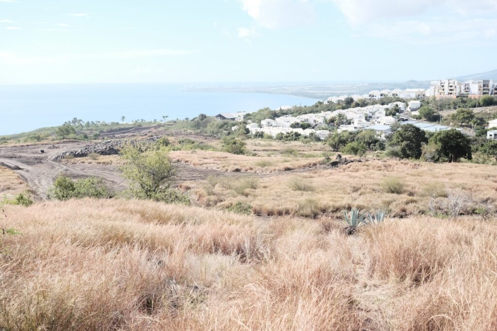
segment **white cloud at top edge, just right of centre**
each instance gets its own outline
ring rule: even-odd
[[[314,21],[309,0],[241,0],[247,11],[262,27],[269,29],[306,25]]]

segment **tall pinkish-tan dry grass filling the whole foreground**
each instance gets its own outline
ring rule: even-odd
[[[453,172],[455,170],[448,170]],[[496,330],[497,224],[343,224],[149,201],[7,206],[4,330]]]

